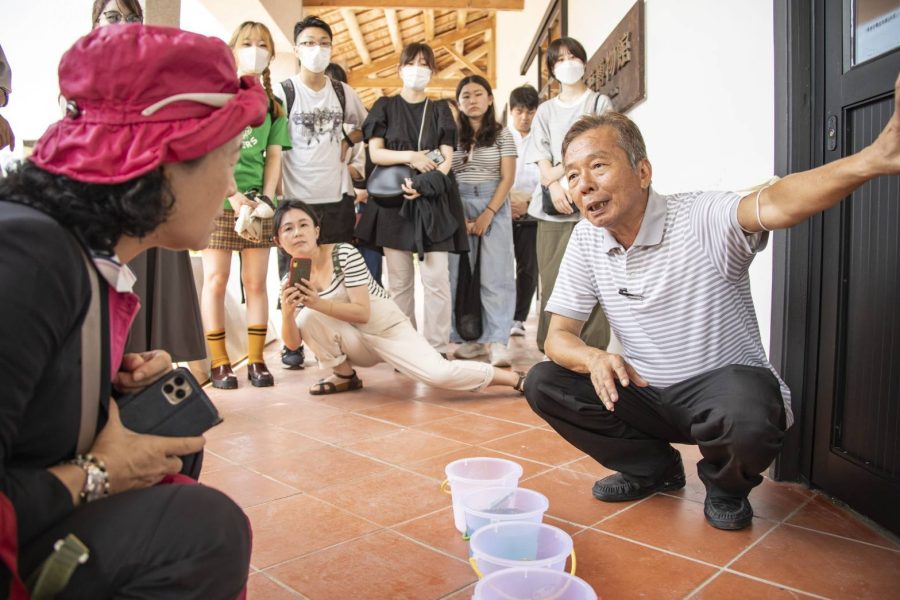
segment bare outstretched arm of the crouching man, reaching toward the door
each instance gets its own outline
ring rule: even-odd
[[[875,177],[900,174],[900,76],[894,83],[894,114],[881,135],[856,154],[794,173],[741,199],[738,222],[745,231],[786,229],[831,208]]]

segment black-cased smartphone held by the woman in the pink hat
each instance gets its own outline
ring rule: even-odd
[[[116,402],[122,424],[136,433],[192,437],[222,422],[209,396],[184,367]]]

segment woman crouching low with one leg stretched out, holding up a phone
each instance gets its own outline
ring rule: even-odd
[[[360,389],[354,367],[382,362],[434,387],[478,391],[505,385],[522,391],[522,374],[441,356],[372,279],[356,248],[319,245],[318,218],[304,202],[284,201],[275,211],[274,227],[275,243],[292,258],[292,266],[309,268],[308,278],[292,283],[297,277],[289,276],[282,285],[284,345],[293,349],[305,341],[319,364],[333,370],[310,394]]]

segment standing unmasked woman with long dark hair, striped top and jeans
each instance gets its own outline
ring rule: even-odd
[[[497,122],[491,84],[480,75],[464,77],[456,86],[459,103],[459,143],[453,171],[469,232],[469,265],[476,253],[481,270],[482,334],[456,349],[459,358],[490,354],[491,364],[508,367],[509,331],[516,305],[512,216],[508,195],[516,178],[516,143]],[[459,257],[450,257],[450,288],[454,298]],[[461,342],[455,320],[451,340]]]

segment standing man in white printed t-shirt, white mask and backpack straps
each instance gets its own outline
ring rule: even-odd
[[[348,150],[362,141],[362,123],[368,112],[346,83],[325,75],[331,62],[331,27],[318,17],[294,25],[294,50],[300,73],[274,87],[288,113],[293,144],[282,155],[285,198],[303,200],[318,213],[321,243],[349,242],[356,225],[353,194],[347,193]],[[278,253],[279,272],[287,272],[287,259]],[[303,346],[281,350],[285,368],[299,369],[305,361]]]

